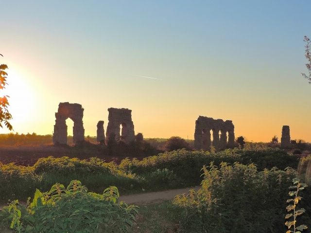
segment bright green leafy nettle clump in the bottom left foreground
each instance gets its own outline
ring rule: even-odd
[[[51,190],[35,197],[27,206],[12,201],[0,212],[0,223],[18,233],[111,233],[127,232],[133,226],[138,207],[121,202],[116,187],[103,195],[87,192],[78,180],[67,187],[56,183]]]

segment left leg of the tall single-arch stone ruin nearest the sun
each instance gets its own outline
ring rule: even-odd
[[[55,113],[55,118],[53,143],[67,144],[67,118],[57,112]]]

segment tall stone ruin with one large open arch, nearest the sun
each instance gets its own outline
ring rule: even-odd
[[[66,120],[73,121],[73,143],[84,141],[83,111],[80,104],[59,103],[58,111],[55,113],[55,125],[53,132],[53,143],[67,144]]]

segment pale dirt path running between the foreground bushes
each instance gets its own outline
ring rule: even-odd
[[[194,189],[196,192],[200,189],[200,186],[184,188],[184,189],[171,189],[161,192],[152,192],[152,193],[142,193],[142,194],[133,194],[127,196],[121,196],[120,201],[124,201],[126,204],[142,204],[142,203],[153,203],[159,200],[173,200],[176,195],[188,193],[190,189]],[[21,204],[26,204],[20,202]],[[0,210],[3,209],[3,204],[0,204]]]

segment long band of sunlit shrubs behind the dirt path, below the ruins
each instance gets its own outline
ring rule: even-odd
[[[73,179],[85,183],[92,192],[102,192],[108,186],[117,186],[122,194],[141,192],[142,188],[148,191],[182,188],[200,184],[202,166],[212,161],[215,165],[236,161],[245,165],[255,163],[259,171],[272,167],[297,168],[298,165],[298,159],[284,150],[248,145],[244,149],[216,153],[182,149],[142,161],[125,159],[120,165],[97,158],[86,161],[48,157],[28,167],[0,164],[0,200],[25,200],[35,189],[47,191],[55,182],[68,185]]]

